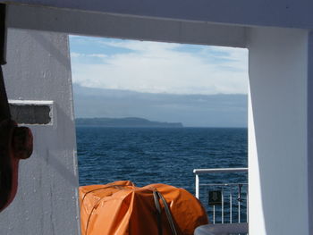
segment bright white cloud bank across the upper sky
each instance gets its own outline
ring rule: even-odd
[[[199,53],[179,44],[107,41],[105,46],[128,53],[82,55],[72,52],[73,81],[89,88],[127,89],[148,93],[246,94],[248,52],[245,49],[201,46]],[[101,63],[83,63],[83,56]]]

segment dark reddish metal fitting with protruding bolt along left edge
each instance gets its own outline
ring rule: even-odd
[[[0,4],[0,212],[13,201],[18,186],[19,162],[32,153],[32,134],[11,119],[1,65],[5,62],[5,4]]]

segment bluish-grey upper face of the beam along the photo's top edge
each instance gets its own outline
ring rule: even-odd
[[[311,0],[11,0],[10,3],[183,21],[313,28]]]

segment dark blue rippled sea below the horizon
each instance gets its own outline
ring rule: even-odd
[[[80,185],[131,180],[140,187],[165,183],[194,194],[193,169],[248,165],[248,130],[245,128],[79,126],[76,134]],[[247,174],[201,175],[200,180],[201,183],[247,182]],[[208,190],[206,186],[201,188],[200,200],[210,213]],[[245,208],[244,202],[242,206]]]

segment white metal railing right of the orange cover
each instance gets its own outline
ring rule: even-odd
[[[220,193],[220,199],[221,204],[219,204],[221,207],[218,206],[218,208],[221,210],[221,217],[219,217],[220,222],[224,223],[224,198],[229,199],[229,208],[227,206],[227,210],[229,210],[229,223],[233,223],[233,190],[234,187],[237,187],[237,199],[235,200],[237,202],[237,214],[238,214],[238,221],[241,222],[241,203],[243,202],[242,195],[246,195],[246,222],[248,222],[248,216],[249,216],[249,209],[248,209],[248,203],[249,203],[249,197],[248,197],[248,183],[247,182],[235,182],[235,183],[207,183],[207,184],[200,184],[199,183],[199,174],[210,174],[210,173],[235,173],[235,172],[248,172],[248,168],[215,168],[215,169],[194,169],[193,173],[195,174],[195,181],[196,181],[196,197],[199,199],[199,187],[200,186],[207,186],[207,187],[218,187],[218,192]],[[227,188],[226,190],[224,190]],[[243,188],[245,192],[243,192]],[[227,195],[226,195],[227,194]],[[226,196],[225,196],[226,195]],[[236,212],[235,212],[236,213]],[[213,205],[212,210],[212,217],[213,217],[213,223],[216,223],[216,206]],[[228,217],[226,218],[228,219]]]

